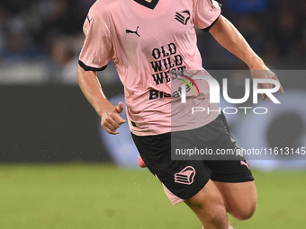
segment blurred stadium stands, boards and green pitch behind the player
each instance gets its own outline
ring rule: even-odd
[[[164,204],[167,200],[148,171],[120,169],[137,168],[138,152],[130,142],[127,126],[121,128],[120,136],[105,135],[77,86],[77,56],[84,40],[82,25],[93,3],[94,0],[0,1],[0,228],[186,228],[190,223],[184,225],[185,217],[197,222],[183,207],[175,210]],[[282,109],[271,106],[265,125],[254,125],[252,130],[258,135],[249,136],[244,127],[262,119],[229,117],[233,135],[246,146],[306,146],[306,2],[220,3],[223,15],[236,25],[267,66],[279,73],[287,92],[280,97]],[[198,31],[198,36],[206,69],[247,69],[208,33]],[[107,97],[114,102],[121,100],[122,87],[114,66],[110,64],[99,77]],[[243,89],[243,85],[236,86]],[[282,161],[275,156],[251,162],[257,169],[262,199],[259,203],[263,205],[251,224],[240,226],[234,221],[233,225],[305,228],[305,158]],[[129,179],[134,179],[131,184]],[[83,184],[80,186],[78,181]],[[52,192],[61,198],[55,198]],[[157,196],[152,198],[154,202],[148,201],[147,193],[149,198]],[[63,201],[67,206],[62,206]],[[135,201],[139,211],[132,207]],[[149,209],[143,206],[150,206],[156,216],[167,216],[162,225],[155,225],[155,215],[149,215]],[[86,213],[80,207],[85,207]],[[35,210],[37,215],[32,213]],[[46,210],[45,214],[41,210]],[[177,217],[183,220],[180,224],[175,222]],[[54,221],[58,225],[53,225]],[[196,226],[201,227],[193,223]]]

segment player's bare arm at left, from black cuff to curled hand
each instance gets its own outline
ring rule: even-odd
[[[123,103],[119,102],[117,106],[113,106],[106,99],[96,72],[85,71],[81,66],[78,66],[77,79],[86,99],[93,105],[94,110],[101,117],[103,129],[112,135],[119,134],[117,128],[120,128],[121,124],[126,121],[120,116],[124,108]]]

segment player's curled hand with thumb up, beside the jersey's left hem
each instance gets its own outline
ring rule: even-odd
[[[122,110],[124,109],[123,103],[120,101],[117,106],[109,104],[104,108],[101,115],[101,127],[109,134],[117,135],[123,123],[126,122],[125,119],[121,118]]]

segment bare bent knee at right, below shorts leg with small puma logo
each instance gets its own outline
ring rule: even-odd
[[[254,181],[213,181],[223,197],[227,211],[234,217],[245,220],[253,216],[257,207],[257,189]]]

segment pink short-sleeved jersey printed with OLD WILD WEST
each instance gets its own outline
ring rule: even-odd
[[[79,64],[85,70],[103,70],[112,59],[121,83],[130,131],[138,136],[201,127],[218,112],[190,115],[171,110],[173,74],[202,70],[194,25],[211,26],[220,5],[211,0],[97,0],[85,19],[85,43]],[[197,106],[209,103],[207,84]],[[177,93],[177,92],[176,92]],[[171,120],[181,120],[182,123]]]

